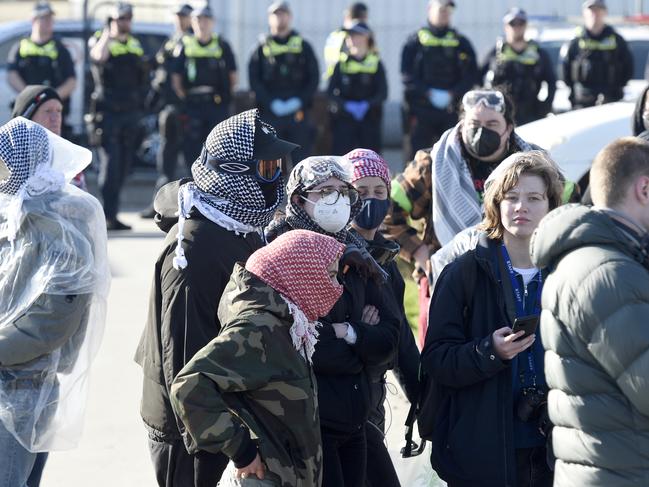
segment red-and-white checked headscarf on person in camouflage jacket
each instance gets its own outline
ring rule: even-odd
[[[292,230],[252,254],[246,269],[315,321],[329,313],[342,295],[342,286],[331,281],[327,267],[344,250],[335,238]]]

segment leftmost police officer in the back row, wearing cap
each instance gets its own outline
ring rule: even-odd
[[[35,4],[31,35],[21,39],[9,52],[7,81],[17,93],[27,85],[54,88],[63,102],[65,115],[77,80],[70,52],[60,40],[54,39],[53,27],[54,10],[50,4]]]

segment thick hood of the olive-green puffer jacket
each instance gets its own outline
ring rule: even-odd
[[[552,266],[567,252],[585,245],[616,248],[642,263],[645,252],[604,211],[587,206],[564,205],[550,212],[539,225],[530,245],[537,267]]]

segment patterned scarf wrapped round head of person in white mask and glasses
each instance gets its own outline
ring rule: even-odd
[[[303,195],[305,191],[315,188],[331,177],[337,178],[351,187],[352,169],[349,163],[340,156],[307,157],[293,168],[286,185],[288,197],[286,223],[293,229],[311,230],[312,232],[332,236],[339,242],[353,243],[363,247],[362,239],[359,239],[347,229],[335,234],[324,231],[313,221],[304,208],[292,201],[293,195]],[[363,202],[359,198],[351,207],[350,222],[358,215],[362,207]]]

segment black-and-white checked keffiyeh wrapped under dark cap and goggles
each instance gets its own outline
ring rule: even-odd
[[[273,218],[284,198],[283,179],[275,183],[275,199],[268,204],[260,182],[255,176],[237,176],[215,171],[206,154],[224,161],[249,161],[254,157],[255,129],[266,133],[275,129],[259,119],[257,109],[228,118],[212,129],[201,156],[192,164],[194,181],[181,186],[178,192],[178,245],[174,266],[185,268],[187,260],[181,246],[183,227],[192,208],[203,216],[237,233],[260,231]]]

